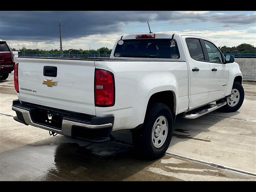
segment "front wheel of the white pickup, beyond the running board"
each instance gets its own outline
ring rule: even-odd
[[[223,112],[229,113],[237,111],[244,102],[243,86],[238,82],[234,82],[231,90],[231,96],[225,98],[225,101],[227,102],[227,104],[220,108]],[[218,104],[220,103],[220,101],[217,101],[216,103]]]

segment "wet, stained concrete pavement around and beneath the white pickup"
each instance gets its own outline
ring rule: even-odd
[[[52,137],[46,130],[15,122],[11,105],[17,96],[11,74],[0,82],[0,180],[256,181],[250,175],[256,174],[256,118],[255,113],[247,112],[256,111],[255,85],[243,84],[247,87],[246,98],[240,113],[214,112],[194,121],[178,118],[168,154],[148,161],[134,154],[130,131],[114,132],[116,141],[93,144],[62,135]],[[196,123],[200,126],[194,127]],[[228,125],[232,134],[224,131]],[[182,156],[249,174],[208,166]]]

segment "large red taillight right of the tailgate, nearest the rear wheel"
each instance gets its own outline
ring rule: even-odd
[[[114,75],[107,70],[96,69],[94,76],[95,106],[114,106]]]

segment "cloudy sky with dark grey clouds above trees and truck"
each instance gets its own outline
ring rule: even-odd
[[[112,48],[123,34],[152,32],[204,36],[217,46],[256,46],[255,11],[0,11],[0,39],[12,48]]]

